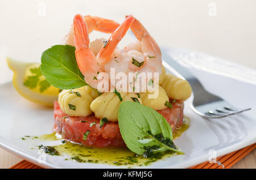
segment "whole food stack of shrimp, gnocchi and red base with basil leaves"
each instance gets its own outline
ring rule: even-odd
[[[138,41],[117,48],[129,29]],[[94,30],[112,35],[109,40],[90,42],[89,33]],[[110,79],[113,68],[115,74],[126,77],[119,78],[121,87],[117,79],[114,83]],[[180,152],[172,142],[172,131],[183,123],[183,102],[192,89],[186,80],[166,73],[158,44],[133,16],[118,24],[76,15],[64,45],[52,46],[42,54],[41,71],[50,84],[63,89],[54,104],[54,130],[64,139],[96,147],[129,144],[129,149],[146,156],[153,151]],[[135,74],[131,82],[127,78],[130,72]],[[157,76],[144,78],[143,73]],[[102,87],[104,78],[109,85]],[[139,85],[137,89],[137,78],[154,88]],[[123,90],[125,85],[127,91]],[[130,103],[124,103],[127,101]],[[136,130],[129,127],[138,128],[140,135],[134,136]],[[151,140],[159,145],[152,145]]]

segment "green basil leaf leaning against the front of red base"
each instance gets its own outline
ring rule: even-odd
[[[169,123],[163,115],[147,106],[131,101],[122,102],[118,124],[125,144],[138,155],[149,157],[167,150],[183,154],[172,142]]]

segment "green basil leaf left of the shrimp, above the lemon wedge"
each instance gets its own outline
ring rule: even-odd
[[[74,46],[52,46],[43,52],[41,63],[42,74],[54,87],[73,89],[88,85],[77,65]]]

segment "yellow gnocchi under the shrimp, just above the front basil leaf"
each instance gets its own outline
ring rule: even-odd
[[[158,97],[149,98],[149,94],[153,94],[154,92],[142,92],[139,95],[141,96],[143,105],[148,106],[154,110],[162,110],[166,109],[166,101],[169,101],[169,97],[167,96],[166,91],[159,86]]]

